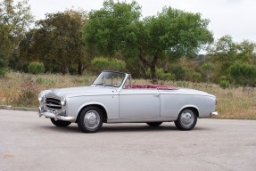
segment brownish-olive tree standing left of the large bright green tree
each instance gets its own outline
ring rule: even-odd
[[[45,20],[37,21],[21,42],[21,57],[28,61],[43,61],[48,71],[70,72],[77,67],[82,74],[85,48],[82,25],[87,15],[82,11],[48,13]]]

